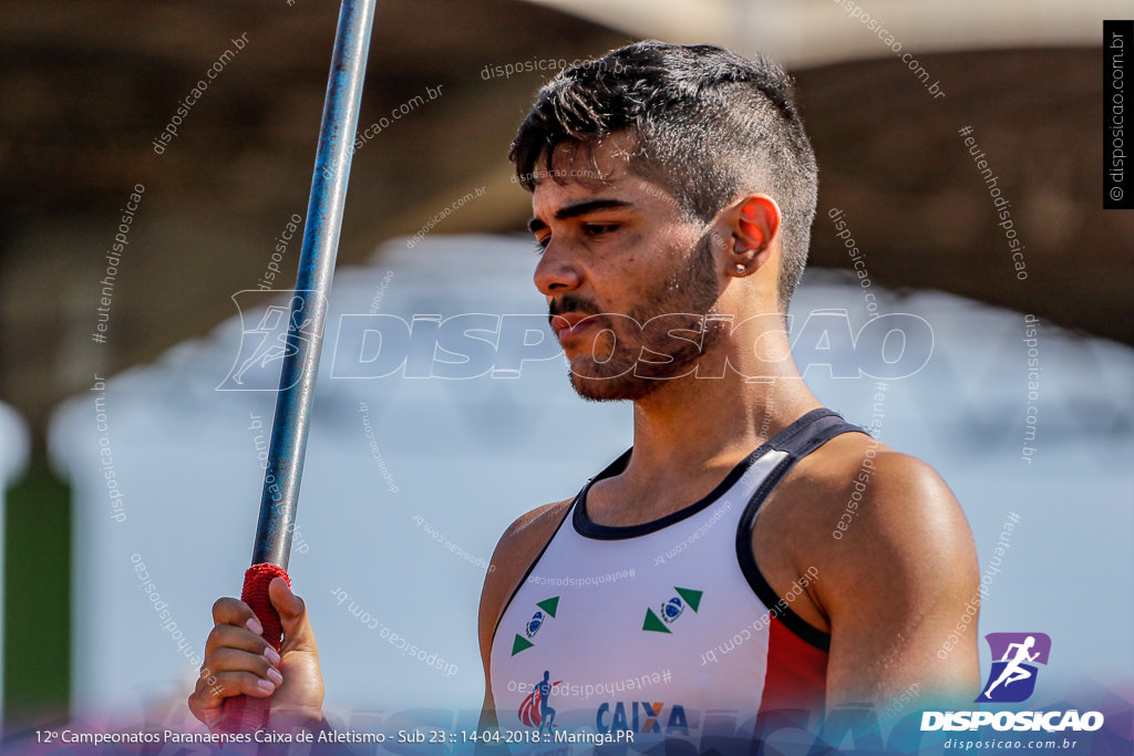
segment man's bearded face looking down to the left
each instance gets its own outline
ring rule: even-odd
[[[538,173],[535,286],[585,399],[636,400],[692,372],[720,340],[702,332],[720,277],[706,228],[659,185],[626,169],[628,139],[561,145]],[[538,171],[545,172],[545,163]],[[661,317],[659,317],[661,316]]]

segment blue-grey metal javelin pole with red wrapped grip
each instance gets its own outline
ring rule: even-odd
[[[281,628],[268,597],[268,585],[274,577],[288,579],[287,562],[311,428],[319,351],[342,226],[352,143],[358,127],[358,107],[366,76],[375,3],[376,0],[342,0],[339,10],[303,250],[299,254],[299,273],[291,299],[287,349],[280,371],[272,440],[260,496],[260,520],[252,550],[252,567],[245,574],[242,593],[242,598],[252,606],[264,627],[264,639],[277,649],[280,647]],[[265,727],[270,700],[247,696],[229,698],[225,703],[221,729],[247,732]]]

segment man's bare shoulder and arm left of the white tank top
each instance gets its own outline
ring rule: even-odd
[[[543,547],[551,541],[556,529],[562,521],[572,500],[545,504],[533,509],[513,523],[492,553],[489,572],[484,576],[484,588],[481,591],[481,608],[479,615],[479,636],[481,643],[481,663],[484,665],[484,704],[481,708],[480,729],[496,729],[496,702],[492,699],[492,682],[490,679],[490,656],[492,653],[492,635],[497,622],[503,613],[505,604],[524,579],[524,574],[532,566]]]

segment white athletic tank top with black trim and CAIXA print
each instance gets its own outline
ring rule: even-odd
[[[633,450],[592,478],[497,625],[501,732],[548,745],[579,742],[568,733],[633,737],[635,750],[680,738],[703,750],[751,744],[772,708],[821,712],[829,639],[790,602],[822,576],[812,569],[777,596],[752,554],[752,525],[798,459],[848,431],[861,428],[807,413],[708,496],[643,525],[586,515],[591,485],[625,469]]]

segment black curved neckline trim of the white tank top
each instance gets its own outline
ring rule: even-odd
[[[624,451],[618,459],[610,462],[610,465],[608,465],[593,478],[587,481],[586,485],[583,486],[583,490],[579,491],[578,496],[576,496],[575,501],[572,503],[572,509],[574,510],[572,512],[572,525],[575,526],[575,532],[585,538],[592,538],[594,541],[624,541],[626,538],[637,538],[649,535],[676,523],[680,523],[687,517],[693,517],[725,495],[725,493],[731,489],[736,482],[744,476],[747,469],[752,467],[752,465],[768,450],[778,449],[784,444],[790,443],[792,438],[794,438],[801,430],[826,415],[835,415],[838,417],[838,415],[830,409],[813,409],[810,413],[806,413],[782,431],[773,435],[767,442],[761,444],[751,455],[737,462],[736,467],[729,470],[728,475],[725,476],[725,479],[717,484],[717,486],[708,495],[702,496],[688,507],[679,509],[676,512],[670,512],[659,519],[651,520],[649,523],[641,523],[638,525],[599,525],[586,513],[586,494],[591,490],[591,486],[598,481],[613,477],[626,469],[626,465],[631,460],[631,453],[634,451],[634,448],[631,447]],[[841,421],[843,418],[839,417],[839,419]]]

